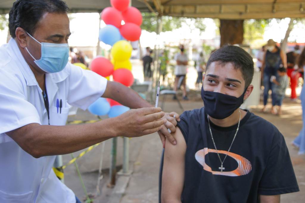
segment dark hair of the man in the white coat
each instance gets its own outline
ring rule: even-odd
[[[33,35],[37,23],[46,13],[66,13],[68,6],[61,0],[17,0],[9,11],[9,34],[16,37],[17,27]]]

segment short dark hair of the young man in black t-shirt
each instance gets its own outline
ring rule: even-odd
[[[233,63],[235,69],[240,69],[242,77],[248,87],[253,79],[254,64],[252,57],[242,48],[233,45],[223,46],[213,52],[206,63],[206,69],[212,62],[220,62],[221,64]]]

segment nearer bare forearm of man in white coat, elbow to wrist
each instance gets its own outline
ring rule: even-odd
[[[35,158],[68,154],[115,137],[111,119],[97,123],[52,126],[31,123],[7,133],[24,151]]]

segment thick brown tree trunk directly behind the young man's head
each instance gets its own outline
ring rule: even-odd
[[[244,20],[220,20],[220,47],[242,44],[244,40]]]

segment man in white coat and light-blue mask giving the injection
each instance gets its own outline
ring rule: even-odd
[[[68,62],[67,12],[61,0],[18,0],[9,12],[12,39],[0,47],[1,203],[80,202],[52,170],[55,155],[157,131],[163,143],[167,136],[175,144],[167,129],[175,131],[177,113],[152,108],[130,88]],[[85,110],[100,97],[131,110],[64,126],[70,105]]]

